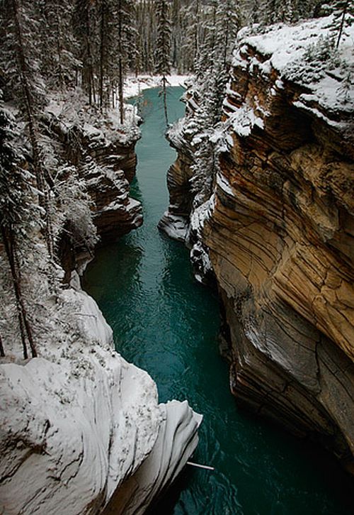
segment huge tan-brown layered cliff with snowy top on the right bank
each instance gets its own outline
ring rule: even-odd
[[[224,100],[228,150],[212,198],[191,220],[203,213],[232,392],[290,431],[316,435],[354,472],[353,104],[338,70],[312,81],[299,72],[304,48],[321,45],[327,26],[241,35]],[[188,186],[181,162],[170,170],[175,189],[182,176]]]

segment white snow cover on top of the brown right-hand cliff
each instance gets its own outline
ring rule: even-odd
[[[311,101],[317,102],[321,109],[353,111],[353,83],[346,98],[341,89],[348,66],[354,61],[354,25],[346,28],[338,50],[332,50],[333,60],[337,62],[333,64],[328,57],[321,57],[331,37],[331,23],[332,17],[327,16],[293,26],[278,23],[257,35],[242,30],[232,64],[244,67],[244,63],[248,63],[251,73],[260,70],[270,75],[271,70],[276,70],[279,74],[275,81],[277,89],[282,89],[284,81],[290,79],[309,89]],[[256,51],[256,55],[246,55],[245,45]],[[313,57],[309,57],[309,52]]]

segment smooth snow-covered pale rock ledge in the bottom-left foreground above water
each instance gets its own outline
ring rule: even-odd
[[[45,357],[0,365],[0,513],[141,514],[198,443],[187,402],[159,404],[151,377],[113,350],[112,331],[84,292],[77,340]]]

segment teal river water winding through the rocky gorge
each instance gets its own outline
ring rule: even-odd
[[[181,93],[170,89],[170,120],[183,115]],[[117,350],[152,375],[161,401],[186,398],[204,415],[193,460],[215,467],[187,467],[150,513],[350,514],[350,480],[330,455],[237,409],[217,350],[217,298],[193,279],[188,250],[156,228],[175,159],[156,89],[144,92],[144,118],[132,185],[144,225],[98,250],[84,286],[113,327]]]

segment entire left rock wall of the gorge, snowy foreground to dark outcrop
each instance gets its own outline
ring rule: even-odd
[[[159,402],[152,377],[115,352],[112,328],[81,289],[80,276],[94,248],[142,225],[141,204],[129,192],[138,118],[127,106],[122,127],[114,114],[111,110],[103,119],[80,96],[57,95],[42,115],[43,139],[60,163],[52,274],[62,286],[54,288],[55,278],[48,280],[44,272],[52,264],[34,221],[35,247],[21,262],[21,287],[35,306],[32,358],[23,359],[10,323],[8,279],[2,292],[4,515],[142,514],[178,476],[198,443],[202,416],[185,399]],[[7,116],[15,133],[15,122]],[[29,153],[21,159],[22,167],[32,165]]]

